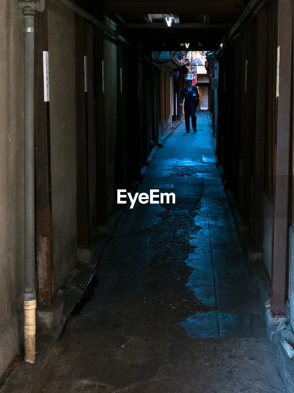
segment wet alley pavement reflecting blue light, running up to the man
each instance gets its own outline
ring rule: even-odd
[[[207,116],[174,130],[139,187],[176,203],[127,208],[42,369],[3,393],[285,391]]]

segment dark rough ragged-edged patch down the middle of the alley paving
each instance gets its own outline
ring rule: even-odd
[[[126,334],[144,332],[172,340],[176,332],[182,332],[182,321],[198,311],[210,310],[186,285],[194,271],[186,261],[195,249],[190,235],[201,229],[194,222],[200,205],[201,198],[177,198],[174,205],[160,204],[164,208],[156,214],[160,220],[144,229],[153,256],[143,278],[143,292],[128,301],[122,299],[115,311]]]

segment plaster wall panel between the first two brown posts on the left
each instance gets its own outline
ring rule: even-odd
[[[76,101],[74,13],[48,4],[53,257],[55,291],[76,262]]]

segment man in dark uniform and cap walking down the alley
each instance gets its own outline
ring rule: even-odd
[[[185,112],[185,125],[186,131],[190,132],[190,116],[192,120],[193,131],[196,132],[196,107],[199,102],[199,94],[196,86],[192,86],[191,79],[185,79],[186,86],[182,88],[180,94],[180,106],[183,106],[185,98],[184,112]]]

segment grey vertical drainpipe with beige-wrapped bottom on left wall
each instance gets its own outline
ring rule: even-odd
[[[36,259],[34,200],[34,14],[44,11],[45,0],[22,0],[18,8],[24,15],[24,204],[25,204],[25,362],[36,358]]]

